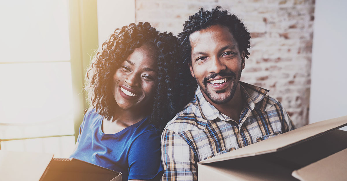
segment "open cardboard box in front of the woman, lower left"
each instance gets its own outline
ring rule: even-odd
[[[77,159],[53,154],[0,150],[3,181],[122,181],[121,173]]]

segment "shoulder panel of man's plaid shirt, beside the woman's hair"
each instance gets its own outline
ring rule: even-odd
[[[199,130],[201,129],[201,126],[199,125],[198,119],[202,118],[198,111],[196,101],[192,100],[181,112],[178,112],[177,115],[169,121],[165,130],[171,130],[176,133],[189,130]]]

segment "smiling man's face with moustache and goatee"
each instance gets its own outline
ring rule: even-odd
[[[192,46],[192,76],[209,102],[229,102],[245,68],[245,53],[240,52],[238,43],[229,29],[214,25],[195,31],[189,37]]]

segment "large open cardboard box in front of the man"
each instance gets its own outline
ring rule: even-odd
[[[347,116],[198,162],[198,180],[347,180]]]

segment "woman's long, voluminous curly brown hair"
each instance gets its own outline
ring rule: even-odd
[[[142,45],[149,45],[156,52],[158,86],[154,94],[150,123],[163,129],[189,101],[179,98],[186,93],[181,89],[183,74],[182,67],[178,66],[178,41],[172,33],[159,33],[148,22],[117,28],[94,56],[86,73],[85,90],[88,92],[90,108],[110,120],[118,108],[112,93],[113,74],[134,49]]]

